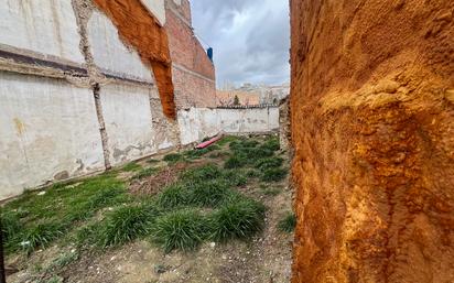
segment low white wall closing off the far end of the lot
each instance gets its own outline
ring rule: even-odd
[[[182,144],[217,133],[267,133],[279,130],[279,108],[208,109],[179,111]]]

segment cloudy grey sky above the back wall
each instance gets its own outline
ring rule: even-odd
[[[218,87],[225,81],[289,81],[288,0],[191,0],[195,33],[214,48]]]

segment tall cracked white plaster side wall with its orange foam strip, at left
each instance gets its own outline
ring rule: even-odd
[[[0,199],[180,144],[165,2],[128,4],[158,37],[110,1],[0,0]]]

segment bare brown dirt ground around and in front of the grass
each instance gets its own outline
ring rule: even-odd
[[[228,145],[225,145],[228,146]],[[156,159],[156,156],[153,156]],[[160,156],[158,156],[160,157]],[[290,167],[289,157],[285,167]],[[208,159],[204,156],[195,163],[220,163],[221,157]],[[142,161],[143,164],[147,161]],[[163,163],[163,162],[160,162]],[[165,163],[164,163],[165,164]],[[160,165],[160,164],[158,164]],[[175,172],[181,172],[180,166]],[[163,173],[165,182],[171,174]],[[129,178],[129,173],[120,174]],[[155,176],[150,177],[151,181]],[[158,181],[162,178],[158,177]],[[150,181],[149,179],[149,181]],[[133,193],[145,189],[156,189],[144,184],[131,182]],[[152,182],[153,183],[153,182]],[[159,182],[158,182],[159,183]],[[10,275],[11,283],[283,283],[290,282],[292,265],[293,235],[280,231],[277,226],[292,207],[292,191],[289,177],[284,181],[263,184],[259,181],[249,183],[239,188],[242,193],[260,199],[268,208],[266,226],[262,232],[249,241],[230,241],[228,243],[208,242],[194,252],[179,251],[165,254],[162,249],[149,241],[139,240],[116,249],[101,252],[82,251],[78,259],[57,272],[53,281],[40,281],[43,266],[52,262],[62,252],[72,252],[74,247],[62,244],[34,252],[24,259],[23,254],[10,257],[9,263],[19,266],[21,271]],[[269,192],[273,193],[269,193]],[[267,193],[268,192],[268,193]]]

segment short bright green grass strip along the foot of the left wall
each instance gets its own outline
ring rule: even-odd
[[[62,183],[44,194],[26,192],[2,209],[6,252],[46,248],[79,221],[106,207],[129,203],[123,182],[108,173],[78,183]]]

